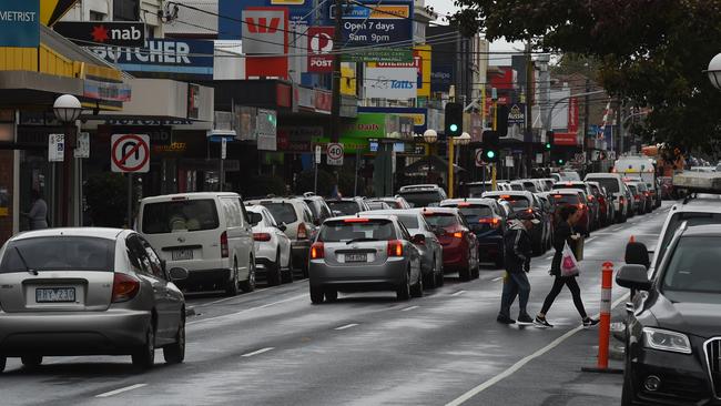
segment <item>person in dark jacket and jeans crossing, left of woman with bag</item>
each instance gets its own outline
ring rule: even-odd
[[[506,275],[504,276],[504,291],[500,296],[500,312],[496,321],[504,324],[515,324],[510,318],[510,306],[518,296],[518,324],[532,324],[526,305],[530,295],[530,283],[526,275],[530,271],[530,257],[534,253],[528,231],[540,221],[534,213],[522,211],[511,214],[508,231],[504,236]]]

